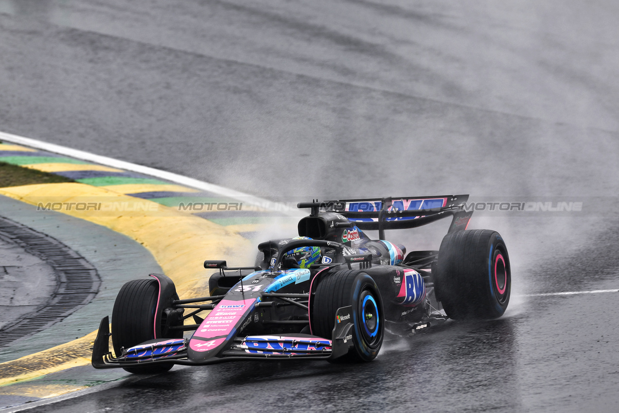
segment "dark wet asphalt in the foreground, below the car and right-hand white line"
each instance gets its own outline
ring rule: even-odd
[[[499,320],[448,321],[385,343],[368,364],[175,367],[32,411],[612,411],[616,296],[592,296],[521,302]],[[583,311],[592,305],[595,318]]]

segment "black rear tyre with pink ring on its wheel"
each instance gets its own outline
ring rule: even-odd
[[[511,270],[503,238],[475,229],[447,234],[434,276],[436,298],[449,318],[492,319],[509,304]]]

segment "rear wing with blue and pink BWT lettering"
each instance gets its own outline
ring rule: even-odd
[[[473,211],[465,211],[469,195],[436,197],[386,197],[301,202],[298,208],[311,208],[311,215],[335,212],[345,216],[360,229],[378,231],[384,239],[386,229],[408,229],[452,216],[448,232],[466,229]]]

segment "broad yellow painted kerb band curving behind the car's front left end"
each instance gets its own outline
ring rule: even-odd
[[[108,204],[131,206],[139,202],[141,210],[137,211],[110,213],[63,208],[60,212],[106,226],[144,245],[164,273],[173,279],[181,297],[204,294],[208,284],[208,273],[202,266],[205,259],[245,263],[240,254],[247,253],[251,248],[248,240],[223,226],[149,200],[118,194],[104,187],[72,182],[38,184],[0,188],[0,194],[32,205],[48,202],[97,203],[105,200]],[[89,364],[90,347],[95,335],[93,332],[62,346],[0,364],[0,385]]]

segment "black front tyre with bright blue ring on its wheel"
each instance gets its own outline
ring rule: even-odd
[[[368,362],[378,356],[384,337],[384,311],[371,276],[359,270],[337,271],[318,284],[312,300],[312,333],[329,339],[337,309],[352,306],[354,348],[341,359]]]

